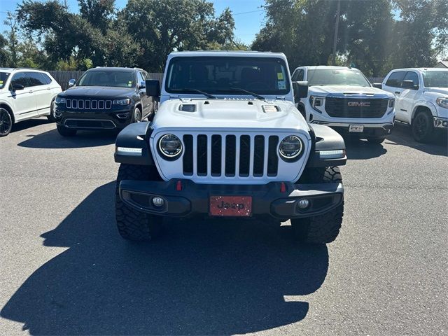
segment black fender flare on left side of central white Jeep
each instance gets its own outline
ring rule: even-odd
[[[127,125],[117,136],[115,162],[127,165],[153,166],[154,160],[149,146],[149,138],[153,129],[150,122],[141,122]],[[137,149],[135,152],[127,153],[120,148]],[[141,152],[138,150],[141,149]]]

